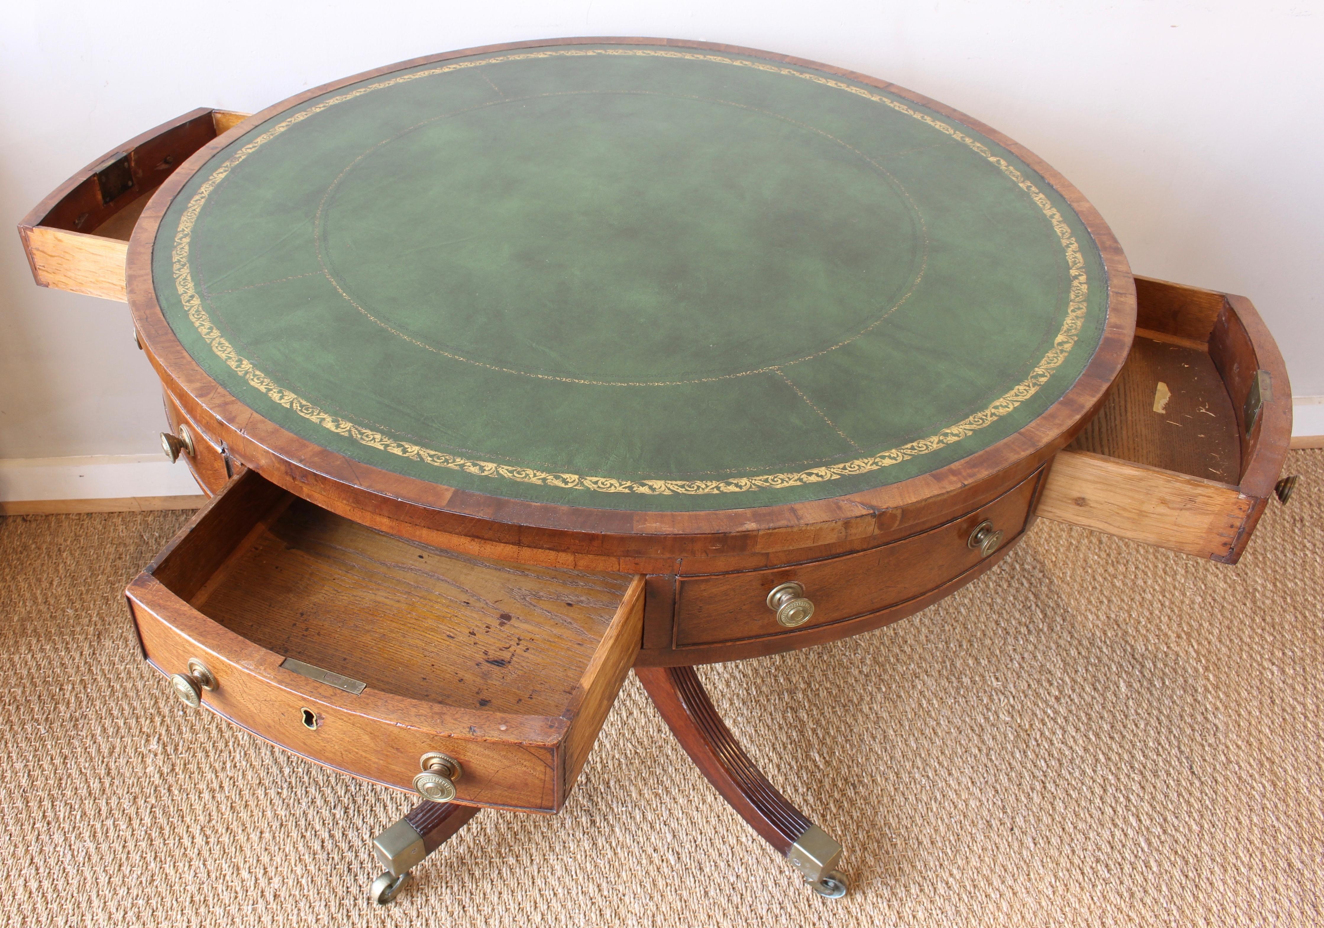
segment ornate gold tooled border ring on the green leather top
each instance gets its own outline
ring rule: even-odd
[[[363,94],[371,93],[373,90],[380,90],[383,87],[389,87],[396,83],[405,83],[408,81],[416,81],[422,77],[430,77],[433,74],[444,74],[446,71],[462,70],[465,68],[479,68],[482,65],[496,64],[500,61],[522,61],[528,58],[551,58],[556,56],[571,56],[571,57],[588,57],[588,56],[651,56],[662,58],[688,58],[694,61],[710,61],[724,65],[735,65],[740,68],[753,68],[763,71],[772,71],[776,74],[786,74],[789,77],[798,77],[806,81],[813,81],[816,83],[822,83],[829,87],[835,87],[838,90],[845,90],[847,93],[865,97],[891,109],[904,113],[908,116],[914,116],[920,122],[928,123],[933,128],[944,132],[956,142],[961,142],[970,150],[976,151],[982,158],[988,159],[996,164],[1002,173],[1010,177],[1017,187],[1029,193],[1030,199],[1034,200],[1035,205],[1043,210],[1045,217],[1053,225],[1054,232],[1057,232],[1058,238],[1062,242],[1062,248],[1066,250],[1067,270],[1071,274],[1071,289],[1067,302],[1067,315],[1062,322],[1062,328],[1058,331],[1057,338],[1053,342],[1053,348],[1043,356],[1043,359],[1030,371],[1025,380],[1018,383],[1010,391],[1004,393],[1001,397],[989,404],[985,409],[965,417],[955,425],[949,425],[937,434],[929,436],[928,438],[920,438],[912,441],[900,447],[894,447],[888,451],[882,451],[879,454],[871,454],[863,458],[855,458],[854,461],[846,461],[838,465],[829,465],[824,467],[813,467],[810,470],[802,470],[797,473],[786,474],[763,474],[760,477],[740,477],[726,481],[621,481],[614,477],[584,477],[580,474],[556,474],[543,470],[536,470],[534,467],[512,467],[510,465],[493,463],[490,461],[470,461],[469,458],[461,458],[454,454],[446,454],[444,451],[434,451],[428,447],[421,447],[410,442],[397,441],[388,438],[379,432],[372,429],[365,429],[350,420],[340,418],[339,416],[331,416],[316,408],[307,400],[301,398],[295,393],[285,389],[265,373],[253,367],[252,361],[241,357],[234,347],[221,335],[220,330],[212,324],[211,316],[203,308],[203,301],[199,298],[197,291],[193,286],[193,275],[189,269],[189,244],[192,241],[193,225],[197,222],[199,212],[207,203],[208,196],[212,191],[229,175],[229,172],[240,164],[244,159],[257,151],[261,146],[266,144],[275,136],[281,135],[285,130],[291,126],[303,122],[311,115],[320,113],[331,106],[343,103],[350,99],[361,97]],[[1084,270],[1084,258],[1080,254],[1080,246],[1071,234],[1071,228],[1062,218],[1062,214],[1053,205],[1053,203],[1026,177],[1017,171],[1013,165],[1008,164],[1004,159],[997,158],[985,146],[980,144],[968,135],[957,131],[947,123],[939,122],[933,116],[925,113],[912,110],[911,107],[894,101],[882,94],[875,94],[863,87],[843,83],[841,81],[834,81],[822,74],[809,74],[805,71],[794,70],[790,68],[780,68],[777,65],[771,65],[760,61],[749,61],[745,58],[728,58],[718,54],[703,54],[696,52],[677,52],[677,50],[662,50],[662,49],[556,49],[547,52],[523,52],[518,54],[502,54],[491,58],[481,58],[477,61],[458,61],[450,65],[444,65],[441,68],[429,68],[426,70],[414,71],[412,74],[404,74],[387,81],[379,81],[367,86],[356,87],[346,94],[339,94],[330,99],[324,99],[320,103],[310,106],[306,110],[295,113],[293,116],[283,119],[271,128],[269,128],[262,135],[257,136],[246,146],[230,155],[216,171],[208,176],[207,181],[199,188],[197,193],[192,196],[188,201],[188,207],[184,209],[183,216],[180,216],[179,228],[175,233],[175,248],[171,252],[172,270],[175,275],[175,287],[179,291],[180,301],[183,302],[185,310],[188,311],[188,318],[193,323],[199,335],[212,347],[212,351],[224,360],[230,369],[242,376],[252,387],[261,391],[274,402],[278,402],[287,409],[293,409],[299,416],[316,422],[324,429],[330,429],[336,434],[350,436],[360,445],[367,445],[368,447],[376,447],[392,454],[399,454],[404,458],[410,458],[413,461],[421,461],[437,467],[449,467],[451,470],[459,470],[466,474],[474,474],[478,477],[502,477],[508,481],[516,481],[519,483],[532,483],[539,486],[561,487],[567,490],[596,490],[598,492],[638,492],[646,495],[670,495],[670,494],[685,494],[685,495],[702,495],[702,494],[719,494],[719,492],[749,492],[753,490],[780,490],[785,487],[805,486],[809,483],[821,483],[824,481],[835,481],[842,477],[851,477],[855,474],[867,474],[874,470],[880,470],[882,467],[890,467],[891,465],[900,463],[908,458],[918,457],[920,454],[928,454],[929,451],[936,451],[940,447],[945,447],[963,438],[978,432],[980,429],[996,422],[1002,416],[1016,409],[1018,405],[1025,402],[1027,398],[1038,392],[1039,387],[1047,383],[1053,372],[1061,367],[1066,360],[1071,348],[1075,347],[1076,335],[1080,332],[1080,326],[1084,322],[1087,299],[1088,299],[1088,281]]]

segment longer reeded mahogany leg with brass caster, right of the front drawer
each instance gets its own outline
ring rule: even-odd
[[[722,721],[694,667],[636,667],[671,733],[732,809],[800,871],[820,895],[846,895],[841,845],[768,782]]]

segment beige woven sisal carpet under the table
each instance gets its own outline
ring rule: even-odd
[[[481,813],[389,909],[410,800],[189,712],[124,582],[183,512],[0,519],[7,925],[1324,923],[1324,453],[1225,567],[1039,522],[888,629],[702,673],[846,846],[797,884],[633,676],[567,810]]]

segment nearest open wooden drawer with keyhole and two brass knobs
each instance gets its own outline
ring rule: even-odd
[[[531,812],[565,801],[643,617],[642,577],[405,541],[253,471],[127,596],[147,659],[185,702],[399,789],[440,752],[459,766],[438,768],[455,802]]]

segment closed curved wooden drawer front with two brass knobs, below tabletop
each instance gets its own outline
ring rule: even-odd
[[[1019,537],[1042,473],[969,515],[879,548],[772,571],[681,577],[675,646],[794,634],[923,596],[980,564],[984,555],[969,540],[981,523],[1004,532],[1000,551]],[[786,582],[798,582],[814,604],[809,621],[794,627],[780,625],[768,606],[768,594]]]

